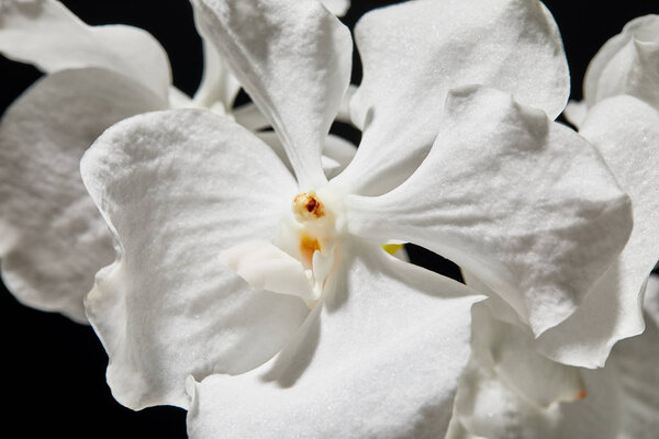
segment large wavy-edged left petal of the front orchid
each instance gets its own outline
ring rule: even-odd
[[[122,404],[187,406],[189,374],[255,368],[298,329],[300,299],[254,291],[220,262],[233,245],[271,239],[295,193],[245,128],[206,111],[135,116],[107,131],[81,170],[120,246],[87,311]]]

